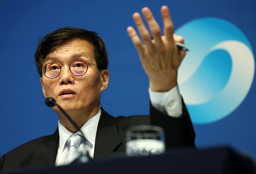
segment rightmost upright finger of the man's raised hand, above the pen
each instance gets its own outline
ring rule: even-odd
[[[164,22],[164,34],[165,34],[166,40],[169,41],[170,43],[174,43],[173,36],[172,36],[173,23],[172,23],[171,15],[167,6],[162,6],[161,14]]]

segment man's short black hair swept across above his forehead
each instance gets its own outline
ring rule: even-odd
[[[88,41],[94,47],[94,58],[96,60],[98,68],[107,69],[108,57],[105,42],[98,36],[96,32],[87,31],[76,27],[63,27],[55,30],[45,36],[40,37],[38,42],[37,51],[35,53],[35,61],[37,66],[37,72],[42,77],[43,60],[54,49],[59,46],[63,46],[69,41],[74,39],[81,39]]]

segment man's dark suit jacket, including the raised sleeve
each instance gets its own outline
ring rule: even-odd
[[[150,115],[112,117],[101,108],[94,159],[125,152],[125,130],[135,125],[157,125],[165,129],[166,148],[194,146],[195,133],[186,106],[181,118],[164,115],[150,106]],[[37,168],[54,165],[59,145],[59,129],[11,150],[0,159],[0,169]]]

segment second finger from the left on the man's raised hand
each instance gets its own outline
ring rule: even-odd
[[[139,31],[139,35],[141,36],[141,39],[144,41],[144,44],[148,48],[148,50],[153,50],[153,44],[151,42],[151,37],[149,34],[149,31],[144,25],[143,20],[141,19],[141,16],[139,13],[133,14],[133,20],[135,22],[135,25],[137,26],[137,29]]]

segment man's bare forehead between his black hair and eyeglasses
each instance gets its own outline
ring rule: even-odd
[[[95,61],[93,55],[94,47],[90,42],[75,39],[62,46],[55,47],[53,51],[44,59],[44,62],[73,61],[75,59]]]

